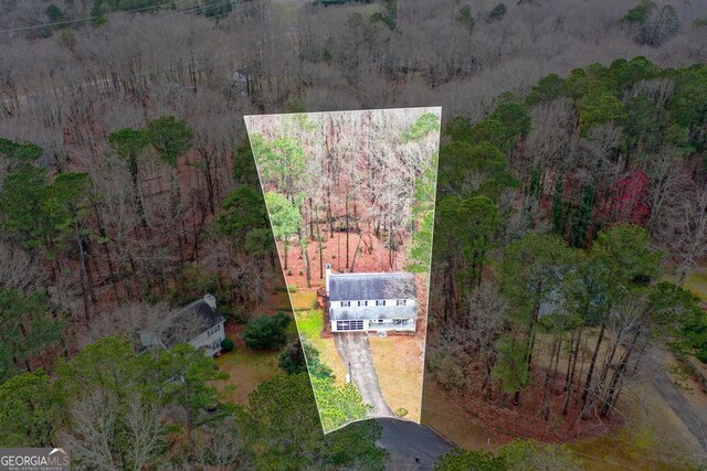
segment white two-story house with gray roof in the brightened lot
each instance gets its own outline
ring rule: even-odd
[[[415,331],[412,274],[333,274],[327,265],[326,297],[331,332]]]

